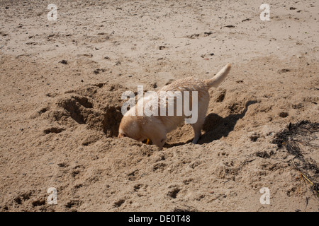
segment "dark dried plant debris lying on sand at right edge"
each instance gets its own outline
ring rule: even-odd
[[[313,193],[319,197],[318,156],[319,123],[299,121],[289,124],[277,133],[272,143],[278,148],[285,148],[293,157],[293,165],[303,174],[311,185]],[[315,158],[315,159],[314,159]]]

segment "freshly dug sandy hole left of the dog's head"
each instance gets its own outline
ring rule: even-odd
[[[65,128],[81,124],[86,129],[103,131],[107,137],[118,136],[118,126],[122,119],[121,85],[88,85],[78,90],[70,90],[55,97],[45,112],[41,112],[52,124],[44,133],[61,133]]]

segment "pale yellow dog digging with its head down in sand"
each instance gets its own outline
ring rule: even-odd
[[[201,129],[203,128],[203,123],[205,121],[208,108],[208,89],[211,87],[217,87],[227,76],[228,72],[230,71],[230,67],[230,64],[227,64],[216,74],[216,76],[208,80],[200,80],[198,78],[188,77],[174,81],[169,85],[165,85],[163,88],[157,91],[158,95],[164,93],[161,95],[161,98],[158,98],[158,100],[156,100],[154,95],[153,97],[141,98],[138,100],[138,103],[135,105],[135,107],[130,108],[128,112],[124,114],[118,130],[118,138],[128,136],[129,138],[133,138],[137,141],[145,141],[146,139],[150,139],[153,144],[157,145],[159,148],[162,148],[167,140],[167,133],[177,129],[177,127],[186,121],[186,119],[189,119],[189,114],[185,114],[185,107],[187,105],[187,107],[198,110],[198,112],[196,112],[196,117],[194,117],[195,120],[190,123],[194,129],[194,139],[192,143],[197,143],[201,136]],[[176,101],[174,101],[173,104],[172,102],[167,101],[169,100],[169,97],[172,97],[172,92],[177,91],[180,91],[183,94],[186,93],[185,91],[190,93],[189,98],[184,98],[184,102],[180,102],[181,106],[177,105],[178,98],[176,95],[174,96],[174,100]],[[197,97],[198,100],[196,100],[194,97]],[[176,113],[173,115],[145,113],[142,115],[135,115],[135,112],[138,111],[138,106],[145,107],[145,105],[148,105],[148,107],[151,106],[150,109],[152,109],[152,107],[154,108],[155,106],[152,105],[154,103],[159,103],[157,106],[158,109],[155,109],[155,112],[167,112],[167,109],[173,106],[174,112]],[[184,109],[181,114],[177,114],[178,107],[179,109]]]

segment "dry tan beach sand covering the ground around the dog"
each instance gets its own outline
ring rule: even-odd
[[[318,211],[272,143],[290,122],[318,122],[318,1],[269,0],[269,21],[262,3],[1,1],[0,210]],[[189,125],[162,150],[116,138],[125,90],[227,63],[197,145]]]

